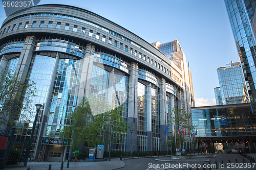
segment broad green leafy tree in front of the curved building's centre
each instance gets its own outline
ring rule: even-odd
[[[123,138],[127,124],[122,117],[121,106],[111,109],[108,102],[99,97],[82,99],[79,106],[70,115],[70,126],[63,129],[65,138],[72,138],[72,149],[87,143],[95,148],[104,140],[108,143],[112,128],[112,139]]]

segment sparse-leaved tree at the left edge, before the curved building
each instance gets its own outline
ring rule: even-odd
[[[35,83],[19,77],[15,70],[0,68],[0,128],[13,127],[18,118],[27,119],[31,113],[31,97]],[[23,114],[25,113],[26,114]]]

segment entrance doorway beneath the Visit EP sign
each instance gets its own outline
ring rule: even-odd
[[[61,162],[64,155],[65,147],[61,145],[48,145],[47,161]]]

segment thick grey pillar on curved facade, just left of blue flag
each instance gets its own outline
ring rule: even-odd
[[[159,91],[159,108],[160,108],[160,138],[161,138],[161,151],[167,151],[167,143],[165,135],[165,124],[167,125],[167,113],[166,113],[166,87],[165,79],[160,80],[160,91]],[[168,129],[167,129],[168,130]]]

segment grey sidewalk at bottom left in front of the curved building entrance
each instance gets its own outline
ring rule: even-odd
[[[67,168],[67,163],[63,163],[63,169],[90,169],[90,170],[112,170],[125,166],[125,163],[120,161],[119,158],[112,158],[110,161],[103,162],[70,162],[69,168]],[[49,164],[51,164],[51,170],[60,169],[61,162],[28,162],[27,167],[6,167],[5,170],[27,170],[29,167],[30,170],[48,170]]]

